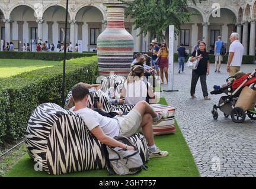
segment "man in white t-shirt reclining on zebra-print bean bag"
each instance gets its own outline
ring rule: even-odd
[[[132,136],[141,127],[149,144],[151,158],[165,157],[168,152],[156,147],[153,138],[152,124],[157,125],[168,117],[168,111],[155,113],[145,101],[137,105],[125,116],[107,118],[87,107],[89,90],[84,83],[78,83],[72,88],[72,97],[75,106],[70,110],[77,113],[84,120],[89,131],[106,145],[120,147],[125,150],[134,150],[133,146],[127,146],[113,139],[114,136]]]

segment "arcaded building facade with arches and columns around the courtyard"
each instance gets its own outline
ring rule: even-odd
[[[107,27],[107,8],[103,3],[119,2],[106,0],[69,0],[67,38],[72,44],[82,41],[84,51],[94,51],[97,37]],[[66,0],[2,0],[0,1],[0,39],[12,41],[16,50],[31,40],[63,43]],[[229,36],[238,32],[244,45],[244,54],[255,56],[256,0],[206,0],[194,5],[188,1],[188,11],[193,12],[190,22],[182,24],[175,38],[174,50],[180,43],[191,53],[197,40],[203,40],[208,50],[214,49],[215,41],[222,36],[227,49]],[[148,51],[155,38],[150,33],[145,37],[134,30],[134,20],[125,19],[125,28],[132,34],[135,51]]]

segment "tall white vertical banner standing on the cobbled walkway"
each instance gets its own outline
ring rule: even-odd
[[[169,25],[169,81],[168,90],[173,90],[174,84],[174,25]]]

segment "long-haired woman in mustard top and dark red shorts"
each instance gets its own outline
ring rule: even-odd
[[[160,58],[159,68],[160,68],[160,73],[161,73],[162,84],[164,84],[164,74],[165,74],[165,79],[167,80],[167,84],[168,84],[168,67],[169,67],[168,53],[169,53],[169,51],[168,51],[167,44],[162,43],[161,48],[158,51],[158,58]]]

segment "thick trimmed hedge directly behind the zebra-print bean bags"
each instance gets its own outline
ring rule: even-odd
[[[97,57],[66,63],[65,96],[78,82],[95,83]],[[22,136],[31,112],[41,103],[62,104],[62,69],[61,65],[47,67],[0,79],[0,143]]]

